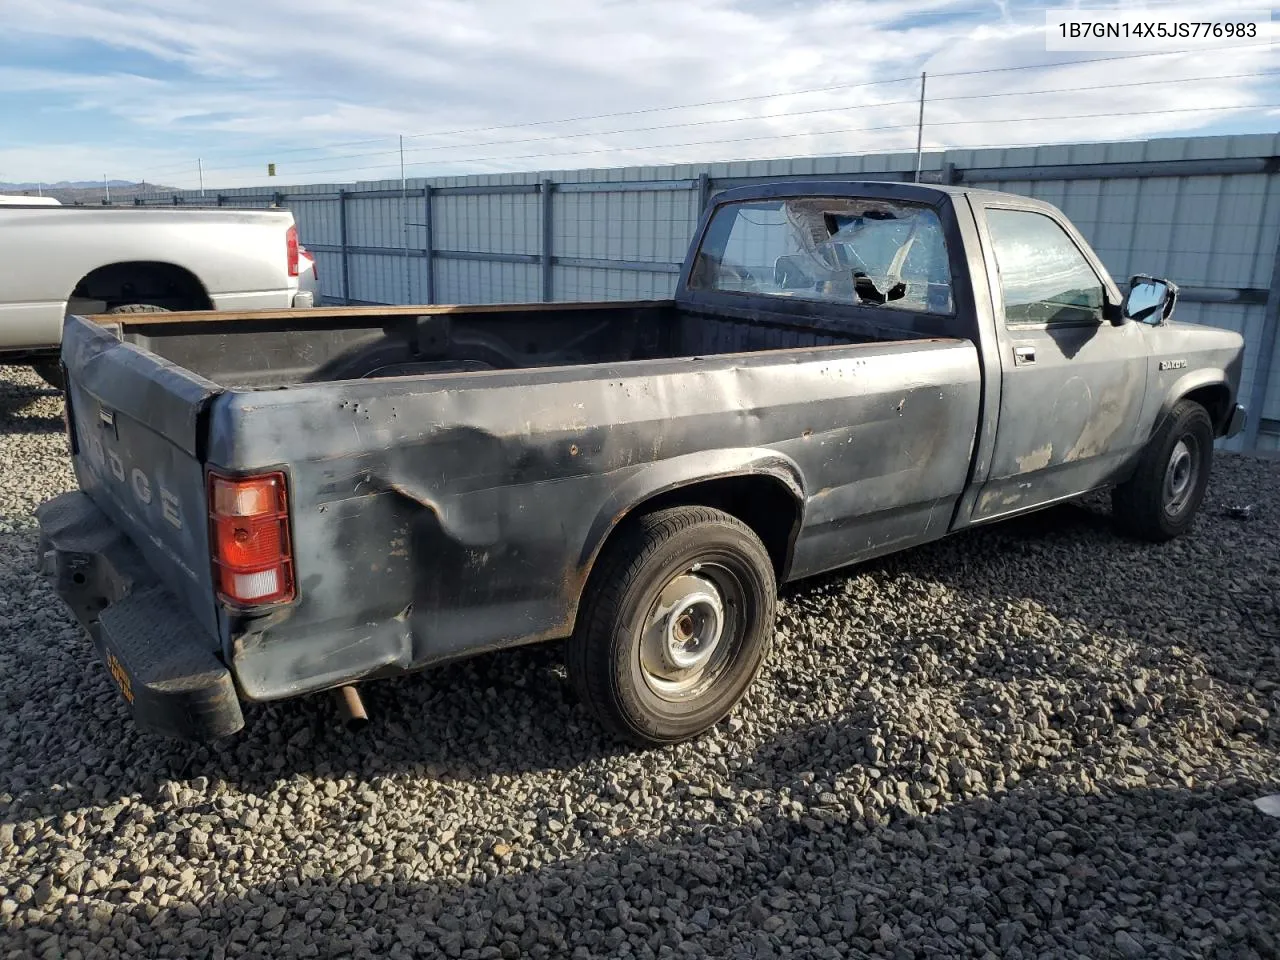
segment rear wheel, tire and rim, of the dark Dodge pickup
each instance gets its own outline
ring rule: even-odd
[[[566,646],[579,695],[646,746],[698,736],[755,680],[777,586],[760,539],[709,507],[644,515],[605,544]]]

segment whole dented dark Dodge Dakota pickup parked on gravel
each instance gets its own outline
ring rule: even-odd
[[[832,180],[717,197],[669,301],[70,317],[41,563],[160,733],[567,639],[678,741],[782,582],[1103,486],[1185,531],[1242,339],[1175,297],[1047,204]]]

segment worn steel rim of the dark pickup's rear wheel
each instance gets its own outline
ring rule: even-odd
[[[655,696],[691,700],[733,659],[741,588],[723,567],[695,563],[658,591],[640,637],[640,673]]]

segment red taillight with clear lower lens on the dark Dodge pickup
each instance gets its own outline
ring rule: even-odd
[[[294,598],[284,474],[210,474],[209,534],[221,599],[253,605]]]

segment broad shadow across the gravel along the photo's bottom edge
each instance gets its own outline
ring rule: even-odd
[[[300,860],[311,878],[157,909],[128,902],[141,878],[119,876],[110,904],[72,901],[60,916],[10,928],[9,946],[50,955],[47,938],[65,951],[83,937],[109,952],[128,941],[184,957],[229,955],[228,943],[264,957],[598,957],[626,941],[635,956],[763,957],[785,945],[826,957],[1274,957],[1280,840],[1245,803],[1251,790],[1021,786],[925,817],[827,814],[797,794],[805,817],[791,804],[742,815],[685,799],[653,838],[602,835],[580,817],[562,838],[593,852],[552,851],[540,865],[521,865],[532,851],[520,840],[495,850],[493,837],[467,836],[468,882],[424,882],[420,854],[416,867],[410,854],[392,868],[384,852],[356,876]],[[353,840],[379,849],[379,815],[356,815]],[[227,841],[234,856],[253,835],[238,827]]]

